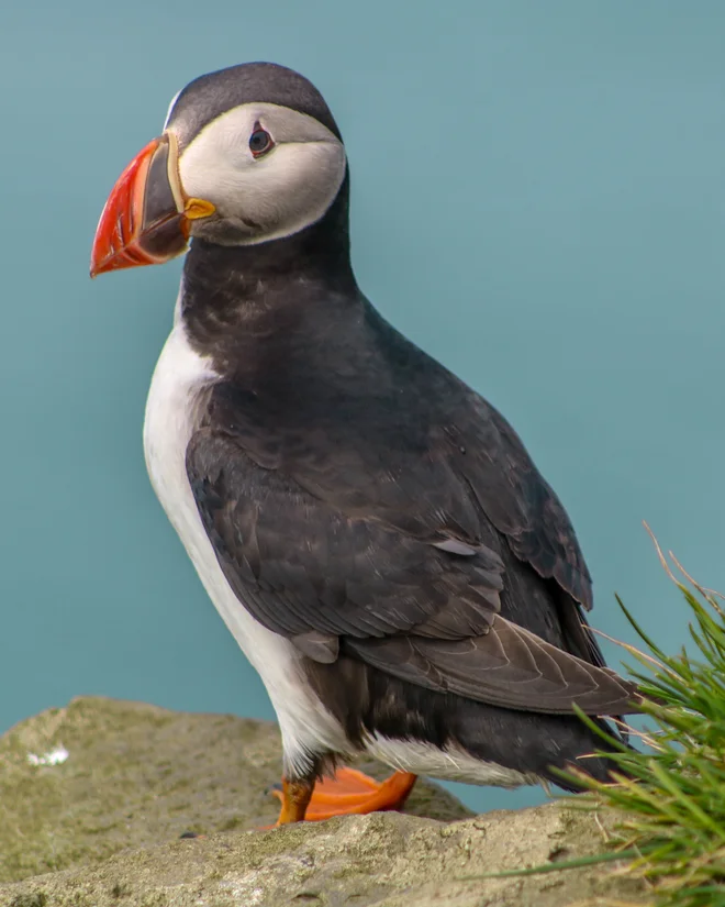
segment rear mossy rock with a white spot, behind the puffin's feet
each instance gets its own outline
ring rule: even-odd
[[[43,764],[54,750],[67,759]],[[390,773],[359,764],[379,777]],[[0,882],[99,862],[186,831],[272,825],[279,803],[266,792],[280,772],[271,722],[100,697],[48,709],[0,737]],[[433,784],[415,786],[408,811],[445,820],[472,815]]]

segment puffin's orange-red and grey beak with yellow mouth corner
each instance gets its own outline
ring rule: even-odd
[[[214,206],[188,198],[179,179],[176,136],[154,139],[129,164],[105,202],[91,252],[91,277],[160,265],[186,252],[190,221]]]

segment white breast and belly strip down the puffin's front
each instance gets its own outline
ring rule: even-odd
[[[202,526],[187,477],[186,451],[200,399],[216,380],[210,361],[191,349],[183,323],[177,318],[148,392],[146,466],[154,490],[211,600],[261,676],[279,719],[286,770],[301,773],[310,767],[310,753],[344,753],[349,744],[339,723],[305,683],[297,650],[258,623],[232,591]]]

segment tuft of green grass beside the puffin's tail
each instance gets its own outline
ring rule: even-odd
[[[721,907],[725,905],[725,609],[720,594],[694,582],[670,553],[682,577],[678,578],[659,546],[657,551],[691,611],[694,648],[667,655],[620,601],[644,643],[645,651],[626,646],[638,663],[628,671],[644,695],[656,700],[643,709],[654,727],[639,734],[642,752],[622,749],[610,755],[618,784],[577,777],[589,789],[584,805],[624,814],[613,851],[593,861],[611,860],[618,852],[627,859],[628,872],[651,884],[651,900],[658,907]],[[581,718],[596,730],[589,718]]]

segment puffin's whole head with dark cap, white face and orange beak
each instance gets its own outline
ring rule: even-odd
[[[119,177],[91,277],[167,262],[191,237],[255,245],[320,221],[345,180],[342,137],[317,89],[271,63],[201,76]]]

